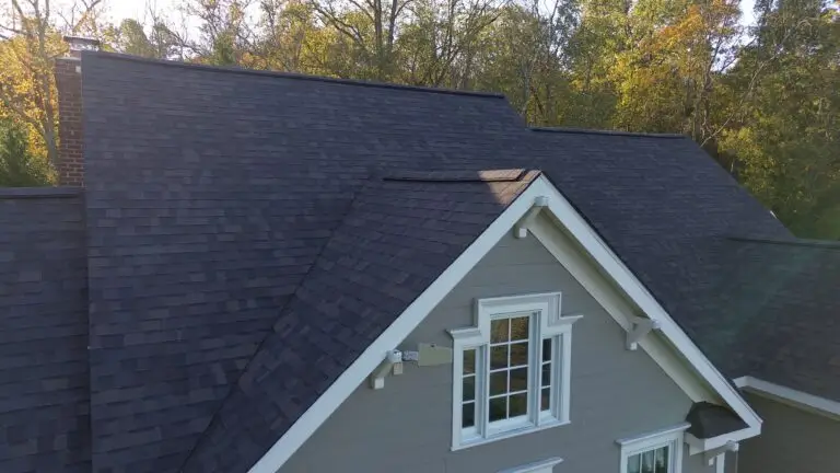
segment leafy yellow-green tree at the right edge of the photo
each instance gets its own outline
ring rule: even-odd
[[[840,15],[818,0],[757,9],[726,79],[721,149],[797,234],[840,239]]]

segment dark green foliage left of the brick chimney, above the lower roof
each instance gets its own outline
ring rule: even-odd
[[[49,185],[44,160],[30,151],[26,134],[12,123],[0,124],[0,186]]]

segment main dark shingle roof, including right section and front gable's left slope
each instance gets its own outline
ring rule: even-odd
[[[83,65],[94,471],[245,471],[508,201],[481,199],[523,185],[480,170],[541,169],[707,351],[723,236],[791,239],[686,138],[528,130],[497,95]]]

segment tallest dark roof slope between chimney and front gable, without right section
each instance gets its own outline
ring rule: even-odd
[[[523,134],[497,95],[82,67],[94,470],[184,463],[372,171],[499,169]]]

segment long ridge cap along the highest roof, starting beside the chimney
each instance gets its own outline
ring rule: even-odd
[[[131,56],[131,55],[126,55],[120,53],[83,51],[82,57],[84,56],[100,56],[108,59],[124,60],[129,62],[143,62],[143,64],[152,64],[152,65],[164,66],[164,67],[206,70],[210,72],[237,73],[237,74],[247,74],[247,76],[265,76],[265,77],[276,77],[276,78],[292,79],[292,80],[306,80],[306,81],[313,81],[313,82],[331,82],[331,83],[338,83],[338,84],[345,84],[345,85],[438,93],[438,94],[444,94],[444,95],[467,95],[467,96],[477,96],[477,97],[487,97],[487,99],[505,99],[504,94],[501,94],[498,92],[479,92],[479,91],[465,91],[465,90],[456,90],[456,89],[439,89],[439,88],[430,88],[430,86],[421,86],[421,85],[406,85],[406,84],[397,84],[397,83],[388,83],[388,82],[364,81],[364,80],[358,80],[358,79],[339,79],[339,78],[330,78],[330,77],[324,77],[324,76],[310,76],[310,74],[298,73],[298,72],[245,69],[240,67],[225,67],[225,66],[208,66],[208,65],[180,62],[180,61],[173,61],[173,60],[150,59],[150,58]]]

